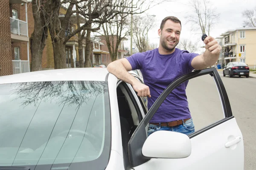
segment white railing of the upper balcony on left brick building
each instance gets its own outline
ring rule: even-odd
[[[11,33],[28,36],[27,34],[27,23],[22,20],[14,19],[10,17],[11,20]]]

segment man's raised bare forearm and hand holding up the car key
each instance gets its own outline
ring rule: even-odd
[[[206,37],[204,43],[206,48],[204,53],[195,57],[191,62],[192,67],[196,70],[202,70],[214,65],[218,61],[221,52],[221,46],[213,37]]]

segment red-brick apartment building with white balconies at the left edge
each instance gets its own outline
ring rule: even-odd
[[[1,0],[0,76],[30,70],[26,6],[27,0]]]

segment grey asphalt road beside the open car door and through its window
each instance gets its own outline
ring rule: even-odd
[[[244,170],[256,170],[256,77],[223,77],[232,113],[244,138]],[[223,119],[212,77],[191,79],[186,89],[195,130]]]

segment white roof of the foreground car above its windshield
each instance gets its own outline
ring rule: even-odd
[[[105,81],[107,68],[65,68],[55,70],[33,71],[0,77],[0,84],[17,82],[43,81]]]

